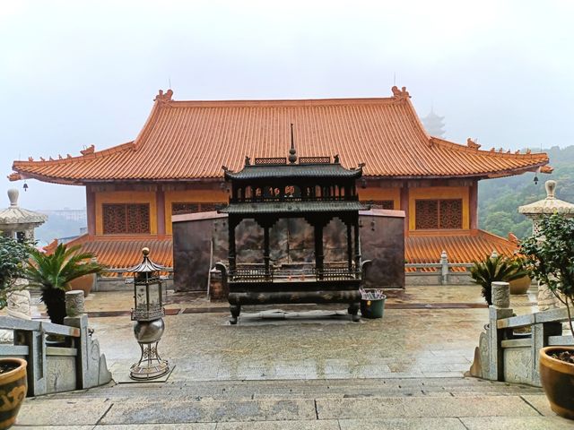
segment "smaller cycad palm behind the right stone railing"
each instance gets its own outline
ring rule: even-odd
[[[482,261],[474,262],[470,270],[471,278],[483,288],[481,292],[489,305],[492,305],[492,282],[509,282],[528,274],[521,259],[509,258],[506,255],[486,255]]]

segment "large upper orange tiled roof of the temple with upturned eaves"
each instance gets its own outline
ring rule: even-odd
[[[345,168],[365,162],[365,176],[504,176],[548,163],[546,154],[479,150],[429,136],[406,90],[384,99],[174,101],[156,97],[134,142],[80,157],[14,161],[15,180],[35,177],[65,184],[109,180],[221,178],[222,165],[245,156],[284,157],[289,125],[301,156],[341,156]],[[18,175],[20,174],[20,175]]]

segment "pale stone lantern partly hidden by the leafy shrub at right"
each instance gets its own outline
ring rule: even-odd
[[[556,181],[546,181],[546,198],[538,202],[526,204],[518,208],[518,212],[532,219],[532,233],[540,232],[540,221],[553,213],[559,213],[566,218],[574,218],[574,204],[562,202],[555,197]],[[544,240],[544,238],[542,238]],[[545,311],[558,307],[558,300],[547,286],[538,284],[538,309]]]

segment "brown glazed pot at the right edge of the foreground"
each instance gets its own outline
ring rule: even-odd
[[[574,365],[551,357],[572,351],[571,347],[546,347],[540,350],[540,380],[550,407],[561,417],[574,419]]]

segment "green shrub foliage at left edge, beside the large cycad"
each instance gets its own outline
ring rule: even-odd
[[[15,280],[22,278],[31,249],[28,242],[0,236],[0,308],[7,305],[7,296],[15,289]]]

